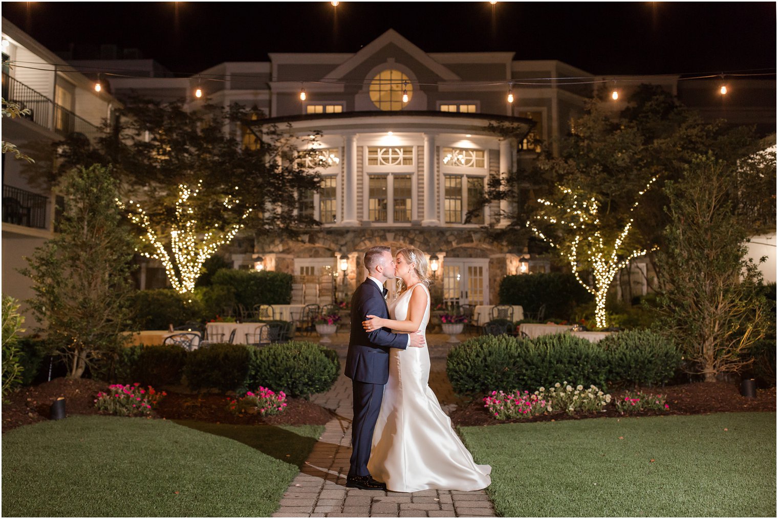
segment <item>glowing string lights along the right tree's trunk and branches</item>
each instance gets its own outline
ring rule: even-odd
[[[650,179],[649,183],[638,192],[638,197],[642,197],[656,182],[657,177]],[[597,320],[597,326],[599,328],[605,328],[608,326],[607,315],[605,314],[605,299],[608,297],[608,287],[611,286],[613,279],[619,270],[625,268],[629,262],[639,256],[645,256],[649,252],[657,250],[657,247],[653,249],[636,249],[629,253],[623,259],[619,259],[619,250],[622,249],[622,245],[625,242],[629,231],[633,226],[633,218],[629,218],[629,221],[622,228],[619,236],[614,240],[611,246],[606,245],[605,239],[603,239],[600,232],[600,219],[598,218],[598,201],[594,197],[588,200],[581,200],[579,195],[573,193],[573,190],[564,187],[557,186],[566,197],[572,197],[567,205],[552,204],[552,202],[545,199],[538,199],[538,203],[544,206],[554,206],[557,211],[561,211],[565,214],[563,220],[559,218],[551,218],[545,214],[534,215],[534,220],[544,220],[552,224],[566,225],[568,228],[575,231],[576,237],[573,239],[573,243],[570,246],[570,251],[566,256],[566,259],[573,270],[573,275],[576,280],[584,287],[588,292],[594,294],[595,312],[594,316]],[[639,200],[636,200],[632,207],[629,208],[629,212],[632,213],[635,207],[639,204]],[[527,221],[527,227],[531,228],[534,235],[548,243],[550,246],[559,248],[559,245],[555,244],[551,238],[544,235],[538,227],[533,225],[531,221]],[[586,257],[583,253],[580,253],[580,249],[587,249]],[[587,263],[591,266],[594,273],[594,287],[591,287],[587,282],[581,279],[579,270],[581,263]]]

